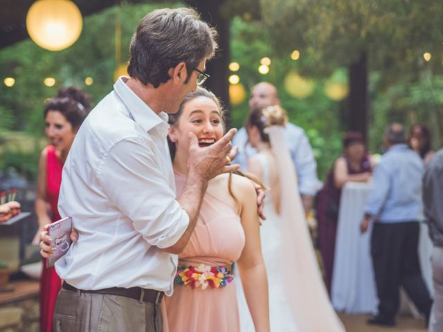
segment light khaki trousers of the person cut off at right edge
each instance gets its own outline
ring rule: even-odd
[[[430,332],[443,331],[443,247],[434,246],[432,252],[434,304],[431,311]]]

